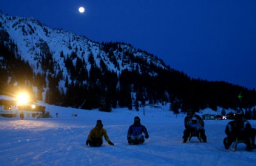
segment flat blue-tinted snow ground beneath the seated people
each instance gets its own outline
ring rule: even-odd
[[[252,165],[256,150],[224,149],[222,140],[228,120],[204,121],[208,143],[181,143],[185,115],[175,117],[169,110],[127,108],[111,113],[49,105],[53,118],[36,119],[0,117],[0,165]],[[55,114],[59,113],[56,118]],[[78,115],[77,117],[72,114]],[[137,146],[126,141],[129,126],[139,116],[149,139]],[[101,119],[110,140],[102,147],[85,145],[87,136]],[[249,121],[256,128],[256,121]]]

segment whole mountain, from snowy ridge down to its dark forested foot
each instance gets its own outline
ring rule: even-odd
[[[234,108],[238,107],[234,101],[239,93],[243,93],[241,107],[255,105],[256,101],[255,91],[224,81],[191,79],[131,44],[94,42],[85,36],[50,28],[34,18],[0,13],[0,47],[0,69],[12,65],[12,71],[8,67],[2,71],[7,74],[2,74],[4,78],[0,81],[9,90],[16,88],[15,85],[29,87],[36,97],[42,96],[38,100],[51,104],[79,107],[86,101],[87,109],[116,107],[116,103],[131,108],[137,107],[138,101],[142,105],[148,101],[175,103],[176,110],[182,107],[199,110],[207,105],[213,109]],[[8,53],[4,55],[5,52]],[[18,61],[15,65],[21,64],[23,68],[14,69],[15,58]],[[7,59],[9,64],[4,64]],[[20,79],[22,82],[18,82]]]

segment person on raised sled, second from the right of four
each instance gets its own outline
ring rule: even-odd
[[[193,109],[188,109],[187,116],[184,120],[185,130],[183,142],[186,143],[191,135],[199,135],[204,143],[207,142],[207,137],[204,130],[204,122],[199,115],[196,115]]]

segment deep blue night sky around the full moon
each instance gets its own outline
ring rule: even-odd
[[[0,0],[0,9],[97,42],[130,43],[193,78],[256,88],[255,0]]]

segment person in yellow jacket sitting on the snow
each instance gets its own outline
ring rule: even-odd
[[[96,126],[90,131],[86,145],[91,147],[99,147],[103,144],[103,136],[109,145],[114,145],[110,140],[107,134],[107,131],[103,128],[101,120],[97,120]]]

